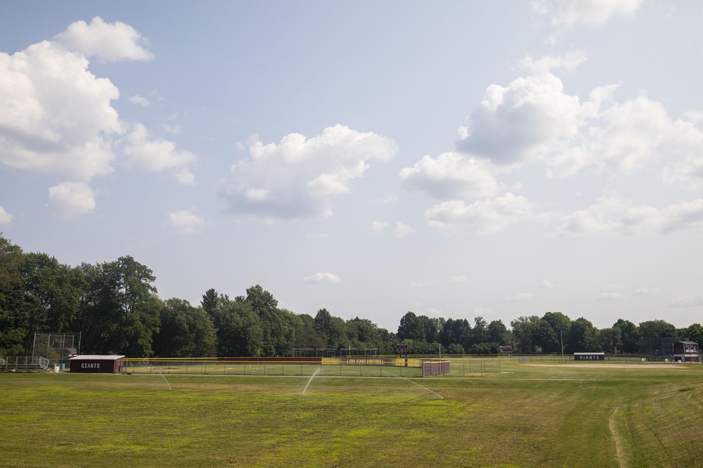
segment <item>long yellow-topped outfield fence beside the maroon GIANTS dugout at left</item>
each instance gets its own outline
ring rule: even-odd
[[[124,358],[122,373],[427,377],[451,372],[434,358]]]

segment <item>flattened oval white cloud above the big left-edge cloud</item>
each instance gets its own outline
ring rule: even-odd
[[[147,61],[154,54],[146,49],[148,41],[134,27],[124,22],[105,22],[96,16],[90,22],[71,23],[54,40],[70,51],[86,57],[96,57],[101,62],[119,60]]]

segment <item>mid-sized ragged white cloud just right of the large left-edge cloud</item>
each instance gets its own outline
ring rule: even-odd
[[[136,124],[127,136],[124,146],[127,164],[140,167],[149,172],[172,171],[179,183],[193,183],[191,165],[195,155],[186,150],[176,149],[176,143],[162,138],[149,138],[148,131],[142,124]]]

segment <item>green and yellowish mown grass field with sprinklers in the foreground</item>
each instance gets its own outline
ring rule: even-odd
[[[166,377],[0,374],[0,464],[703,466],[703,365]]]

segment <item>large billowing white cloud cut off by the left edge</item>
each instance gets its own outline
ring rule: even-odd
[[[79,181],[113,170],[112,137],[125,125],[110,101],[120,91],[88,64],[51,41],[0,52],[0,162]]]

